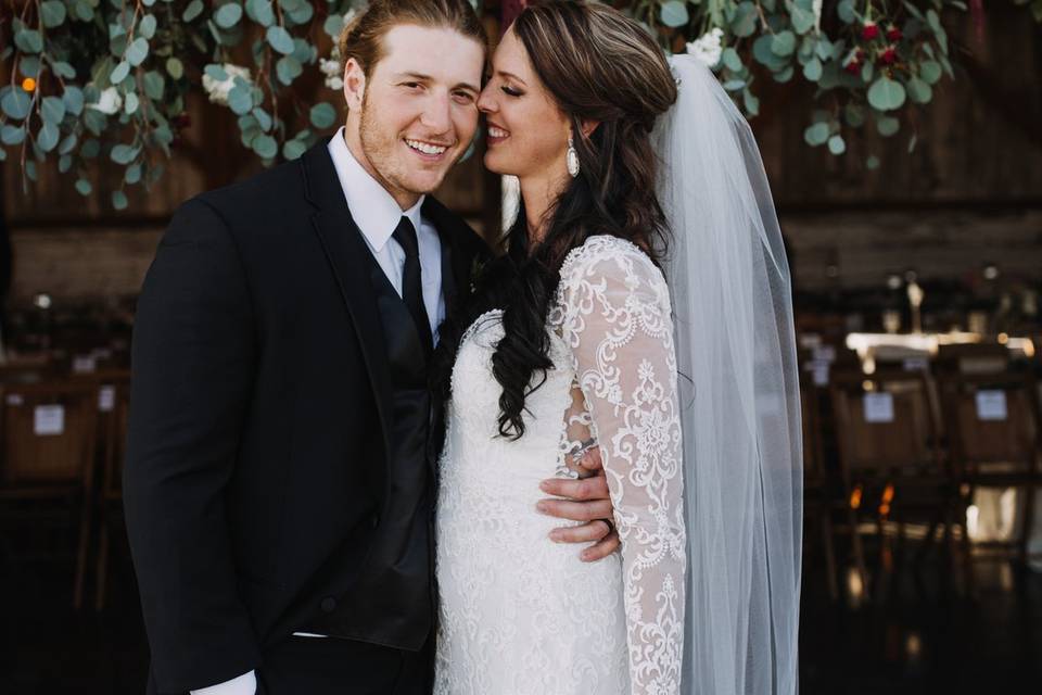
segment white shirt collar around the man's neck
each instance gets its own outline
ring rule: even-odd
[[[377,253],[383,251],[403,215],[409,218],[419,233],[420,207],[424,195],[420,195],[412,207],[403,212],[391,193],[372,178],[347,149],[343,126],[329,141],[329,154],[333,159],[340,186],[344,189],[351,216]]]

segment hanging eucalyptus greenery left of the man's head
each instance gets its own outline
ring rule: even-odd
[[[239,116],[243,147],[266,164],[298,157],[340,118],[338,90],[318,83],[344,17],[364,0],[26,0],[0,16],[0,159],[24,162],[26,181],[50,157],[91,194],[88,164],[124,167],[111,191],[158,180],[163,160],[190,128],[185,109],[203,93]],[[20,3],[20,7],[22,3]],[[243,64],[243,60],[252,64]],[[314,85],[314,81],[312,81]],[[327,90],[329,90],[328,93]],[[331,103],[329,103],[331,102]],[[306,126],[295,134],[292,128]],[[110,194],[110,192],[106,192]]]

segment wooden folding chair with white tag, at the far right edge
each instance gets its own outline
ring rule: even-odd
[[[952,462],[962,483],[963,514],[977,488],[1014,488],[1024,514],[1014,542],[980,546],[1013,549],[1028,560],[1034,491],[1042,483],[1042,418],[1037,381],[1030,372],[948,374],[940,377]],[[964,540],[970,559],[968,536]],[[967,571],[969,567],[967,564]]]

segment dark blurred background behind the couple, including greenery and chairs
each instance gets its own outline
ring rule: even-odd
[[[1042,1],[614,4],[714,66],[773,187],[802,691],[1040,692]],[[143,691],[119,491],[137,292],[180,202],[340,123],[331,37],[363,5],[0,8],[0,693]],[[483,3],[491,35],[522,5]],[[493,242],[510,191],[481,149],[437,198]]]

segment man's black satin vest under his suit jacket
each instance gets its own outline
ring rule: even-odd
[[[447,241],[442,236],[446,302],[455,294]],[[365,256],[391,377],[383,505],[372,521],[376,530],[360,577],[304,631],[417,650],[436,610],[434,498],[444,407],[432,402],[428,358],[412,316],[376,258]]]

